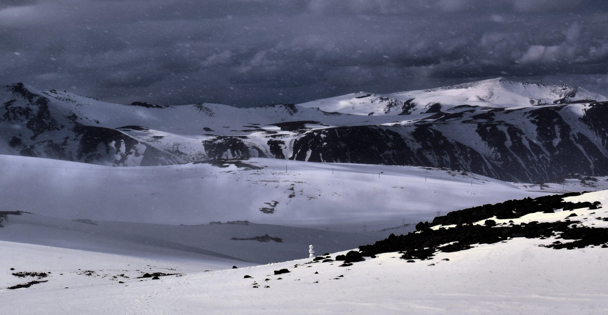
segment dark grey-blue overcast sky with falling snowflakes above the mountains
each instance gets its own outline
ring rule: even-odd
[[[0,84],[301,103],[506,77],[608,95],[606,0],[2,0]]]

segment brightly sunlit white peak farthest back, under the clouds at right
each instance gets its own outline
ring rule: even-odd
[[[411,115],[454,111],[471,105],[489,108],[528,107],[547,104],[605,102],[608,97],[568,85],[539,85],[505,78],[420,91],[378,95],[367,92],[299,104],[328,112],[354,115]]]

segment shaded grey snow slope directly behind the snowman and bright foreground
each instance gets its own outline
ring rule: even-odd
[[[319,254],[323,254],[344,251],[362,243],[376,241],[372,235],[353,235],[271,224],[185,226],[116,221],[72,221],[30,213],[9,215],[2,225],[4,225],[0,227],[2,241],[156,260],[186,260],[201,263],[217,261],[229,267],[307,257],[309,244],[315,244]],[[264,235],[274,240],[242,240]]]

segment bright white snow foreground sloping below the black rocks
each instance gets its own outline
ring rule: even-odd
[[[349,267],[306,265],[310,260],[305,259],[143,281],[131,278],[151,270],[171,273],[167,268],[176,267],[0,242],[4,286],[20,283],[10,275],[15,272],[10,266],[51,272],[44,278],[48,282],[0,289],[0,309],[4,314],[62,315],[606,314],[608,251],[538,246],[552,241],[517,238],[416,263],[387,253]],[[274,275],[282,268],[290,272]],[[78,269],[95,274],[78,274]],[[119,274],[130,279],[111,280]]]

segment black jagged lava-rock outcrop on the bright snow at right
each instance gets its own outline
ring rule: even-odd
[[[418,223],[417,232],[407,235],[389,235],[388,238],[376,241],[375,244],[359,246],[362,255],[371,256],[384,252],[401,252],[406,260],[424,260],[432,257],[435,252],[455,252],[471,248],[473,244],[492,244],[499,241],[507,241],[511,238],[548,238],[556,237],[564,240],[575,240],[568,243],[560,241],[547,247],[582,248],[586,246],[608,247],[608,229],[578,226],[579,221],[555,221],[508,225],[498,225],[492,217],[498,216],[502,219],[519,218],[522,215],[535,212],[550,212],[554,209],[580,209],[582,207],[597,207],[599,202],[564,202],[565,196],[576,196],[579,193],[567,193],[564,195],[543,196],[539,198],[525,198],[522,200],[510,200],[499,204],[486,204],[464,210],[453,211],[445,216],[436,217],[432,223]],[[574,213],[573,213],[574,214]],[[572,215],[570,215],[572,216]],[[472,224],[485,220],[485,224]],[[447,226],[456,224],[455,227],[439,227],[431,229],[431,226]],[[338,258],[336,257],[336,260]]]

